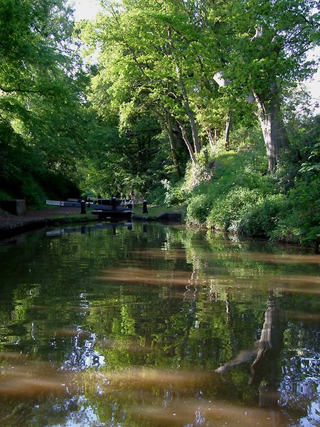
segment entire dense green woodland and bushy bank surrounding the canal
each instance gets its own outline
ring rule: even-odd
[[[320,243],[315,0],[0,1],[0,199],[102,194]]]

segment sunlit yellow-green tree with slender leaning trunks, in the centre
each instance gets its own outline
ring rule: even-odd
[[[107,7],[97,26],[87,27],[91,42],[101,46],[94,88],[100,100],[109,103],[108,108],[111,105],[119,111],[120,124],[139,109],[158,115],[168,132],[179,174],[173,120],[192,162],[200,150],[192,100],[198,86],[192,70],[196,50],[190,47],[198,36],[186,9],[174,1],[124,1],[121,9]]]

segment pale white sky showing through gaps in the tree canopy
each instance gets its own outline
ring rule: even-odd
[[[75,9],[75,20],[81,19],[94,19],[97,11],[99,10],[99,0],[70,0],[70,4]],[[316,49],[316,56],[320,57],[320,47]],[[320,112],[320,69],[314,75],[314,78],[305,82],[306,87],[309,89],[312,102],[318,102],[319,107],[316,112]]]

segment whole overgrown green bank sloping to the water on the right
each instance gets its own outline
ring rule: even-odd
[[[188,223],[319,251],[319,129],[318,120],[300,135],[282,153],[274,174],[266,172],[259,137],[245,139],[235,150],[203,152],[198,165],[167,191],[166,199],[186,201]]]

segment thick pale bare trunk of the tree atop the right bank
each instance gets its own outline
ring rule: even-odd
[[[279,151],[289,144],[289,138],[280,112],[277,84],[272,84],[267,99],[263,99],[255,91],[253,95],[257,102],[257,116],[267,149],[269,172],[274,172],[277,166]]]

